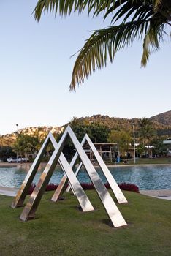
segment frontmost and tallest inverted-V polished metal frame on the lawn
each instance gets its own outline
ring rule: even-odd
[[[22,214],[20,215],[20,219],[23,221],[26,221],[27,219],[34,217],[35,211],[39,206],[39,201],[42,198],[43,192],[45,192],[45,188],[48,184],[48,181],[50,180],[50,177],[53,174],[53,170],[57,165],[58,159],[61,155],[61,151],[64,148],[64,145],[66,143],[66,139],[68,136],[71,138],[72,143],[74,144],[77,150],[77,153],[81,161],[83,162],[83,165],[86,167],[88,176],[90,176],[91,181],[94,184],[94,187],[96,189],[96,192],[99,195],[100,200],[102,201],[104,209],[106,210],[108,216],[110,217],[111,222],[113,223],[113,226],[121,227],[126,225],[126,221],[123,219],[121,212],[118,210],[118,207],[115,205],[113,198],[110,196],[106,187],[104,187],[102,180],[99,178],[99,175],[96,173],[96,170],[92,165],[90,159],[88,159],[86,152],[83,150],[83,147],[80,145],[74,132],[69,126],[66,128],[64,134],[62,135],[61,140],[58,143],[58,146],[56,146],[55,148],[55,151],[53,151],[53,155],[50,157],[50,160],[47,163],[47,166],[45,167],[45,170],[43,171],[37,183],[37,186],[34,189],[34,192],[32,192],[31,197],[28,200],[28,203],[26,204]],[[39,161],[39,158],[38,158],[38,161]],[[36,165],[36,162],[34,165]],[[68,170],[66,170],[65,166],[64,166],[64,170],[67,173]]]

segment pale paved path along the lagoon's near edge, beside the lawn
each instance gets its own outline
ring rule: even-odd
[[[11,187],[1,187],[0,186],[0,195],[7,195],[9,197],[15,197],[18,189]],[[140,194],[148,195],[150,197],[157,197],[160,199],[171,200],[171,190],[162,189],[162,190],[140,190]]]

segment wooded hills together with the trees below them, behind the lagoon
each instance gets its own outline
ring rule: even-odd
[[[123,154],[127,151],[127,148],[133,145],[134,126],[135,142],[140,144],[137,151],[144,152],[145,146],[152,145],[155,148],[154,154],[164,155],[166,148],[162,142],[171,136],[169,120],[171,120],[171,111],[151,118],[132,119],[94,115],[81,118],[73,117],[64,127],[29,127],[20,129],[11,135],[0,136],[0,159],[3,159],[4,156],[16,154],[16,152],[20,155],[34,155],[35,152],[39,151],[50,130],[58,141],[68,124],[74,130],[78,140],[81,141],[87,133],[93,143],[117,143]],[[51,152],[52,150],[53,148],[49,147],[47,151]],[[73,150],[71,141],[68,141],[64,151],[66,154],[72,154]]]

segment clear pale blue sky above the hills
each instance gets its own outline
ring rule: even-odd
[[[61,126],[73,116],[151,117],[171,110],[170,40],[140,67],[142,42],[118,52],[76,92],[69,91],[72,54],[102,17],[32,14],[36,0],[0,1],[0,135],[24,127]]]

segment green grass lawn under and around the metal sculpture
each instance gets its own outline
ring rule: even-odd
[[[171,255],[171,201],[124,192],[118,205],[128,226],[113,228],[94,190],[86,191],[96,211],[83,213],[77,200],[50,202],[46,192],[36,218],[21,222],[23,208],[12,209],[12,197],[0,195],[0,255]]]

